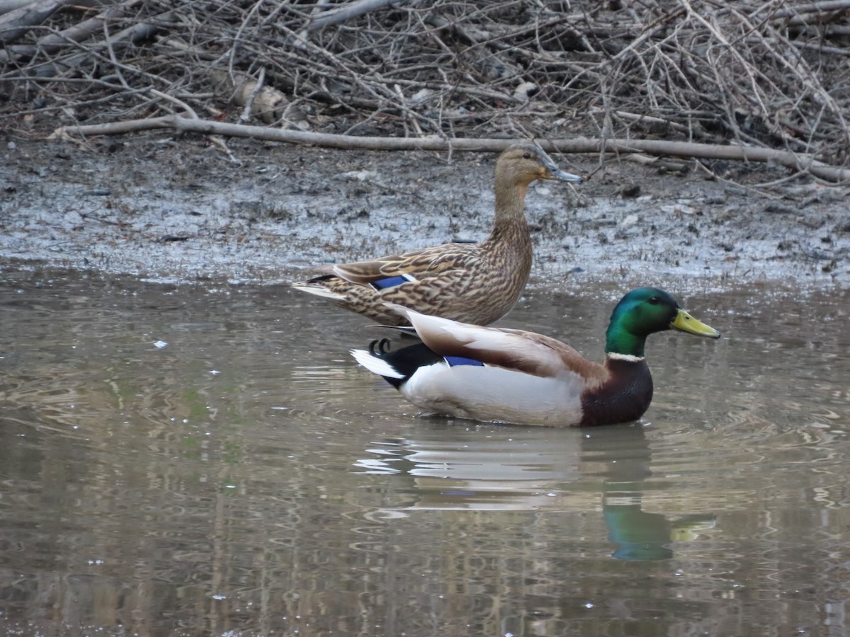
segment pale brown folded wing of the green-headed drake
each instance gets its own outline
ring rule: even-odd
[[[604,365],[587,360],[575,348],[549,336],[459,323],[421,314],[398,304],[387,305],[405,316],[422,342],[440,356],[472,358],[484,364],[544,378],[570,371],[589,384],[602,382],[608,377]]]

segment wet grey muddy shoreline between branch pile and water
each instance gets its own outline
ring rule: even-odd
[[[495,155],[368,153],[229,140],[237,165],[201,138],[103,139],[94,148],[0,138],[0,257],[175,283],[281,284],[320,262],[447,240],[492,220]],[[779,168],[659,172],[559,156],[592,172],[575,188],[538,183],[527,217],[531,285],[588,280],[727,286],[845,285],[848,189],[790,181]]]

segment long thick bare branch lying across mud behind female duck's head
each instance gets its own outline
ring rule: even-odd
[[[128,132],[150,131],[172,128],[178,132],[200,132],[207,135],[223,135],[263,139],[290,144],[309,144],[324,148],[365,150],[466,150],[474,152],[499,152],[512,143],[512,139],[498,138],[386,138],[351,137],[321,132],[281,130],[258,126],[243,126],[222,121],[202,120],[195,117],[162,116],[144,120],[121,121],[112,124],[61,127],[51,139],[71,139],[73,135],[94,137]],[[694,157],[698,159],[720,159],[739,161],[772,161],[797,172],[812,175],[832,182],[850,180],[850,168],[827,166],[813,157],[797,155],[784,150],[748,148],[742,146],[717,146],[692,142],[670,142],[657,139],[539,139],[537,143],[547,151],[561,153],[635,153]]]

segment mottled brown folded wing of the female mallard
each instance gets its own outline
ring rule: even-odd
[[[450,270],[468,270],[479,261],[479,251],[477,244],[447,243],[368,261],[320,266],[314,268],[314,273],[360,284],[393,277],[428,279]]]

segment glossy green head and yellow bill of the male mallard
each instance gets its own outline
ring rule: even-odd
[[[605,352],[643,357],[646,337],[664,330],[720,338],[720,332],[685,312],[668,292],[638,288],[623,296],[611,313]]]

